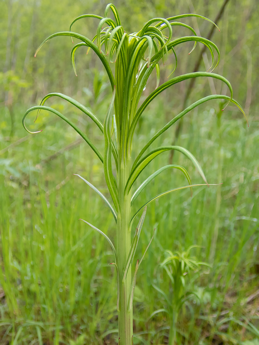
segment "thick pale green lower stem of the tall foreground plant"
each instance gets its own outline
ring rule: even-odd
[[[125,281],[122,280],[123,269],[131,247],[131,195],[124,196],[124,189],[129,176],[130,162],[121,163],[118,171],[119,212],[117,219],[117,265],[119,272],[119,338],[120,345],[132,345],[133,314],[128,310],[131,289],[131,267]]]

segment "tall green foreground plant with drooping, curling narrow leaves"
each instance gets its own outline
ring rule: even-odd
[[[109,11],[112,12],[114,19],[108,17]],[[82,18],[96,18],[99,20],[96,35],[92,40],[87,37],[71,31],[73,24]],[[96,193],[103,198],[105,203],[111,210],[116,226],[116,248],[109,237],[104,234],[101,230],[97,229],[92,224],[87,223],[89,226],[97,230],[102,234],[109,244],[111,245],[115,262],[113,263],[117,271],[117,281],[118,281],[118,298],[117,298],[117,310],[118,310],[118,327],[119,327],[119,342],[121,345],[132,344],[133,337],[133,314],[132,314],[132,304],[134,288],[136,284],[136,275],[139,265],[142,259],[137,260],[135,271],[132,277],[131,266],[133,264],[133,259],[136,252],[136,247],[138,240],[140,238],[141,228],[146,213],[146,206],[157,198],[163,195],[172,193],[175,190],[191,188],[193,186],[208,185],[207,180],[204,176],[201,166],[194,156],[185,148],[180,146],[162,146],[157,147],[151,151],[147,151],[151,144],[158,138],[162,133],[169,129],[177,120],[191,111],[198,105],[207,102],[211,99],[224,99],[228,103],[234,103],[244,114],[241,106],[232,99],[233,90],[227,79],[224,77],[211,73],[211,72],[195,72],[187,73],[178,77],[174,77],[159,85],[160,76],[160,63],[163,64],[169,52],[172,52],[175,56],[175,68],[177,66],[177,57],[174,47],[180,43],[193,41],[194,47],[197,42],[203,43],[210,51],[212,57],[212,65],[210,70],[214,66],[214,50],[218,54],[217,62],[215,67],[219,63],[219,50],[217,46],[210,40],[203,37],[198,37],[190,26],[178,22],[178,19],[185,17],[198,17],[210,21],[209,19],[199,16],[197,14],[183,14],[179,16],[164,18],[154,18],[149,20],[139,32],[134,32],[127,34],[119,19],[118,12],[113,4],[108,4],[104,17],[97,16],[95,14],[84,14],[76,18],[70,25],[70,31],[58,32],[49,36],[38,48],[47,42],[49,39],[57,36],[70,36],[72,39],[77,38],[81,42],[77,43],[71,51],[71,60],[73,63],[74,70],[75,62],[74,56],[76,50],[85,46],[89,49],[93,49],[97,57],[103,63],[103,66],[107,72],[109,81],[111,83],[111,89],[113,92],[112,100],[109,105],[104,123],[102,123],[89,109],[81,105],[76,100],[65,96],[61,93],[49,93],[45,96],[39,106],[32,107],[27,110],[25,116],[23,117],[23,126],[30,132],[25,126],[25,118],[32,110],[38,110],[38,114],[41,109],[48,110],[65,120],[71,127],[73,127],[78,134],[87,142],[87,144],[92,148],[97,157],[103,164],[104,175],[106,183],[109,189],[109,193],[112,198],[113,205],[106,199],[106,197],[92,184],[90,184],[83,177],[79,176],[85,181],[88,186],[93,188]],[[211,22],[211,21],[210,21]],[[182,26],[191,31],[193,36],[184,36],[178,39],[173,39],[173,27]],[[96,43],[95,43],[96,42]],[[38,52],[37,50],[37,52]],[[36,54],[37,54],[36,52]],[[35,56],[36,56],[35,54]],[[112,72],[110,63],[113,62],[115,65],[115,73]],[[214,68],[215,68],[214,67]],[[150,95],[143,101],[141,105],[140,99],[142,92],[145,89],[148,78],[151,76],[153,70],[156,71],[157,84],[156,88]],[[175,69],[174,69],[175,70]],[[175,116],[171,121],[168,122],[160,131],[158,131],[141,149],[140,153],[137,155],[134,162],[131,159],[131,152],[133,147],[133,136],[144,110],[148,104],[153,101],[153,99],[160,95],[160,93],[183,80],[196,78],[196,77],[211,77],[219,79],[226,83],[230,91],[230,97],[224,95],[213,95],[204,97],[188,108],[183,110],[179,115]],[[99,130],[104,136],[104,153],[101,154],[94,144],[90,141],[85,133],[83,133],[76,125],[73,124],[68,118],[66,118],[59,111],[46,107],[44,103],[50,97],[57,96],[63,98],[73,104],[75,107],[84,112],[85,115],[89,116],[97,125]],[[114,109],[114,115],[113,115]],[[37,114],[37,116],[38,116]],[[30,132],[31,133],[31,132]],[[37,133],[37,132],[33,132]],[[185,168],[179,165],[166,165],[161,167],[159,170],[150,175],[135,191],[132,193],[132,187],[141,174],[141,172],[146,168],[146,166],[158,155],[165,151],[176,150],[181,152],[183,155],[188,157],[193,165],[199,171],[205,184],[191,185],[191,180],[188,172]],[[147,153],[148,152],[148,153]],[[112,173],[113,165],[116,167],[116,177]],[[145,205],[143,205],[138,211],[132,216],[131,207],[140,192],[148,185],[148,183],[158,176],[165,169],[179,169],[182,171],[186,179],[188,180],[188,185],[169,189],[155,197],[148,200]],[[133,240],[131,241],[131,229],[132,224],[138,214],[143,211],[140,218],[138,226],[135,231]]]

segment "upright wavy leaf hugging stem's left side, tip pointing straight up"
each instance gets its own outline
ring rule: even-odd
[[[105,120],[104,120],[104,175],[105,180],[109,189],[109,192],[111,194],[111,197],[113,199],[114,206],[116,208],[116,211],[118,211],[119,202],[118,202],[118,192],[117,187],[115,185],[114,176],[112,173],[112,139],[111,139],[111,132],[110,132],[110,119],[112,115],[113,110],[113,104],[115,99],[115,87],[113,91],[113,97],[111,100],[111,103],[109,105]]]

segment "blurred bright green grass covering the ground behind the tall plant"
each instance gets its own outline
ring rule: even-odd
[[[158,109],[166,107],[170,108],[170,104],[157,100],[145,117],[145,126],[139,128],[135,138],[140,144],[150,136],[150,129],[155,132],[161,121],[166,122],[155,116]],[[18,111],[22,114],[23,109]],[[64,111],[67,114],[71,109],[65,106]],[[217,187],[212,186],[198,187],[192,198],[189,191],[178,191],[147,209],[137,257],[142,256],[153,229],[156,230],[137,276],[134,344],[167,342],[169,321],[163,314],[150,318],[164,306],[163,298],[152,286],[157,267],[163,261],[161,255],[166,249],[173,252],[196,244],[202,248],[193,249],[195,256],[209,262],[215,219],[219,221],[219,230],[212,268],[191,275],[187,288],[198,294],[200,300],[193,297],[180,313],[176,325],[178,341],[242,344],[259,337],[258,297],[247,302],[258,289],[258,130],[256,122],[251,121],[248,130],[243,119],[235,115],[224,112],[220,126],[223,185],[218,214]],[[4,112],[1,119],[9,124]],[[79,173],[101,186],[100,190],[107,195],[101,164],[83,143],[45,162],[53,152],[78,138],[67,128],[64,137],[64,124],[53,121],[44,134],[29,137],[1,156],[1,343],[70,345],[83,334],[84,340],[81,337],[77,344],[115,344],[116,273],[108,266],[113,260],[111,248],[101,235],[78,221],[84,217],[104,232],[109,229],[113,239],[113,217],[103,200],[72,175]],[[78,126],[87,126],[90,138],[101,147],[93,126],[79,121]],[[214,109],[203,107],[186,118],[181,136],[181,145],[195,154],[208,181],[213,183],[218,182],[220,149],[216,125]],[[4,140],[8,129],[2,130],[1,150],[10,145]],[[13,140],[24,134],[17,129]],[[170,133],[160,140],[161,145],[169,144]],[[165,157],[166,154],[161,161],[158,157],[151,162],[151,171]],[[180,155],[175,159],[188,165]],[[193,183],[198,181],[198,173],[192,170],[191,174]],[[150,183],[144,195],[140,194],[135,209],[159,193],[163,185],[173,188],[184,182],[178,171],[164,171],[161,176],[161,180]],[[163,278],[160,288],[170,293],[166,275]],[[107,285],[112,288],[107,289]]]

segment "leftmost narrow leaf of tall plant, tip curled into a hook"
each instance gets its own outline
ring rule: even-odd
[[[24,127],[24,129],[28,132],[28,133],[31,133],[31,134],[35,134],[35,133],[39,133],[41,132],[42,130],[40,131],[36,131],[36,132],[31,132],[29,131],[29,129],[26,128],[25,126],[25,118],[26,116],[29,114],[30,111],[32,110],[38,110],[38,109],[43,109],[43,110],[48,110],[48,111],[51,111],[53,112],[54,114],[56,114],[57,116],[59,116],[61,119],[63,119],[64,121],[66,121],[71,127],[73,127],[75,129],[75,131],[87,142],[87,144],[90,146],[90,148],[95,152],[95,154],[97,155],[97,157],[100,159],[100,161],[103,163],[103,157],[102,155],[100,154],[100,152],[97,150],[97,148],[93,145],[93,143],[90,141],[90,139],[88,139],[88,137],[76,126],[73,124],[72,121],[70,121],[67,117],[65,117],[63,114],[61,114],[59,111],[53,109],[53,108],[50,108],[50,107],[45,107],[45,106],[35,106],[35,107],[32,107],[30,109],[28,109],[25,113],[25,115],[23,116],[23,119],[22,119],[22,125]]]

